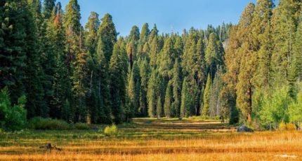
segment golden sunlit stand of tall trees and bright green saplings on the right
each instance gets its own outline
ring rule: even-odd
[[[258,0],[230,31],[223,95],[254,127],[302,120],[301,11],[300,0]]]

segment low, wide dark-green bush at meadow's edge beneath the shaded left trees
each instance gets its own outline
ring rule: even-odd
[[[30,129],[34,130],[68,130],[70,125],[64,120],[56,120],[51,118],[32,118],[29,121]]]

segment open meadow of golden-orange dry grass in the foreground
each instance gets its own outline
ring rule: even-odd
[[[150,123],[151,120],[151,123]],[[63,151],[39,149],[48,142]],[[103,130],[0,133],[0,160],[302,160],[301,132],[238,134],[215,120],[135,119]]]

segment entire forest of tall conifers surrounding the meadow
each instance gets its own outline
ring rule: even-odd
[[[120,124],[225,118],[256,129],[302,121],[302,1],[258,0],[237,25],[183,33],[133,26],[55,0],[0,1],[0,128],[32,118]]]

